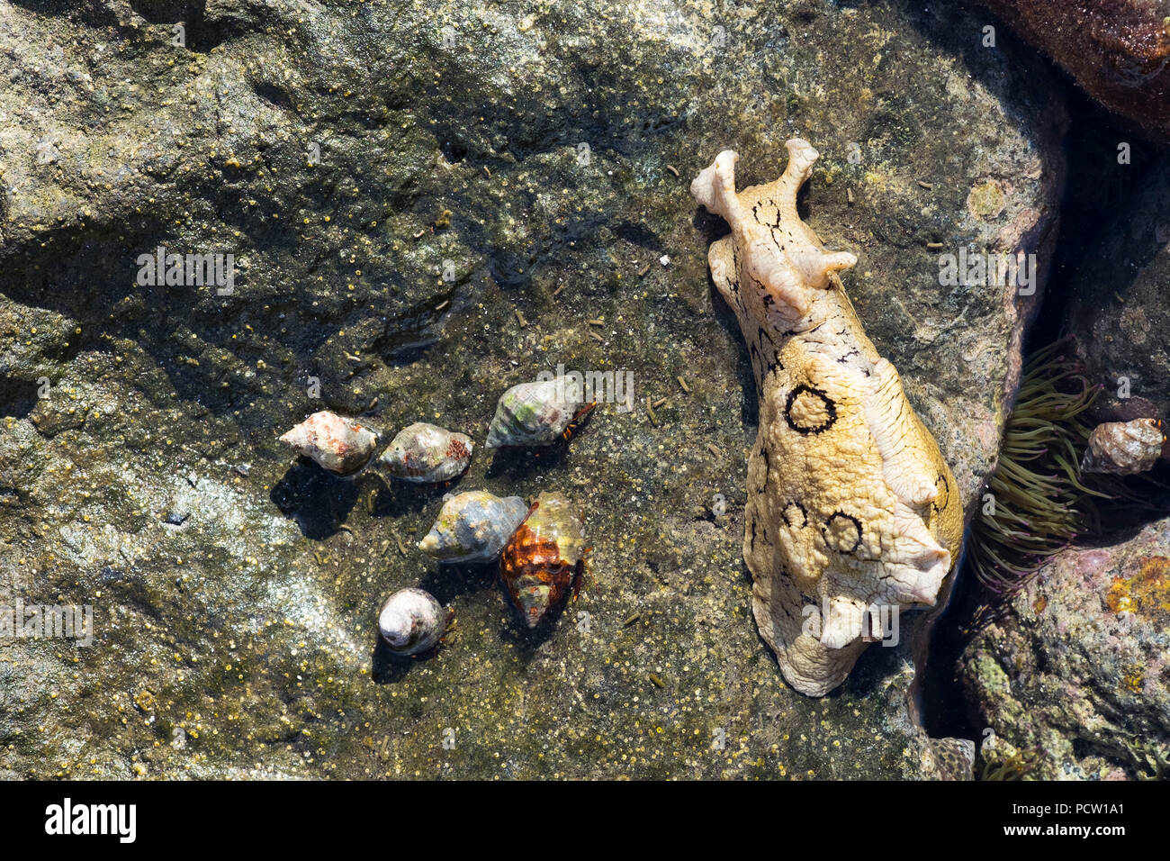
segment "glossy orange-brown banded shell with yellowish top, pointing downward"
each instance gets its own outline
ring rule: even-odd
[[[539,624],[584,572],[580,508],[559,493],[542,493],[500,556],[500,576],[525,624]]]

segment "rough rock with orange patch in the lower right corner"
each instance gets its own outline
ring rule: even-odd
[[[976,720],[1032,777],[1161,777],[1170,767],[1170,520],[1054,556],[983,628],[961,675]]]

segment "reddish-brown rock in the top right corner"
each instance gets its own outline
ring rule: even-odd
[[[980,0],[1135,127],[1170,137],[1170,0]]]

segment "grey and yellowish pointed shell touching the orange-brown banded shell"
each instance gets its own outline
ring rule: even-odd
[[[419,548],[443,562],[490,562],[528,514],[519,497],[486,491],[448,497]]]

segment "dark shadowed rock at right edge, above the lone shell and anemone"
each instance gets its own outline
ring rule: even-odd
[[[1067,328],[1102,421],[1170,417],[1170,158],[1145,175],[1076,273]]]

